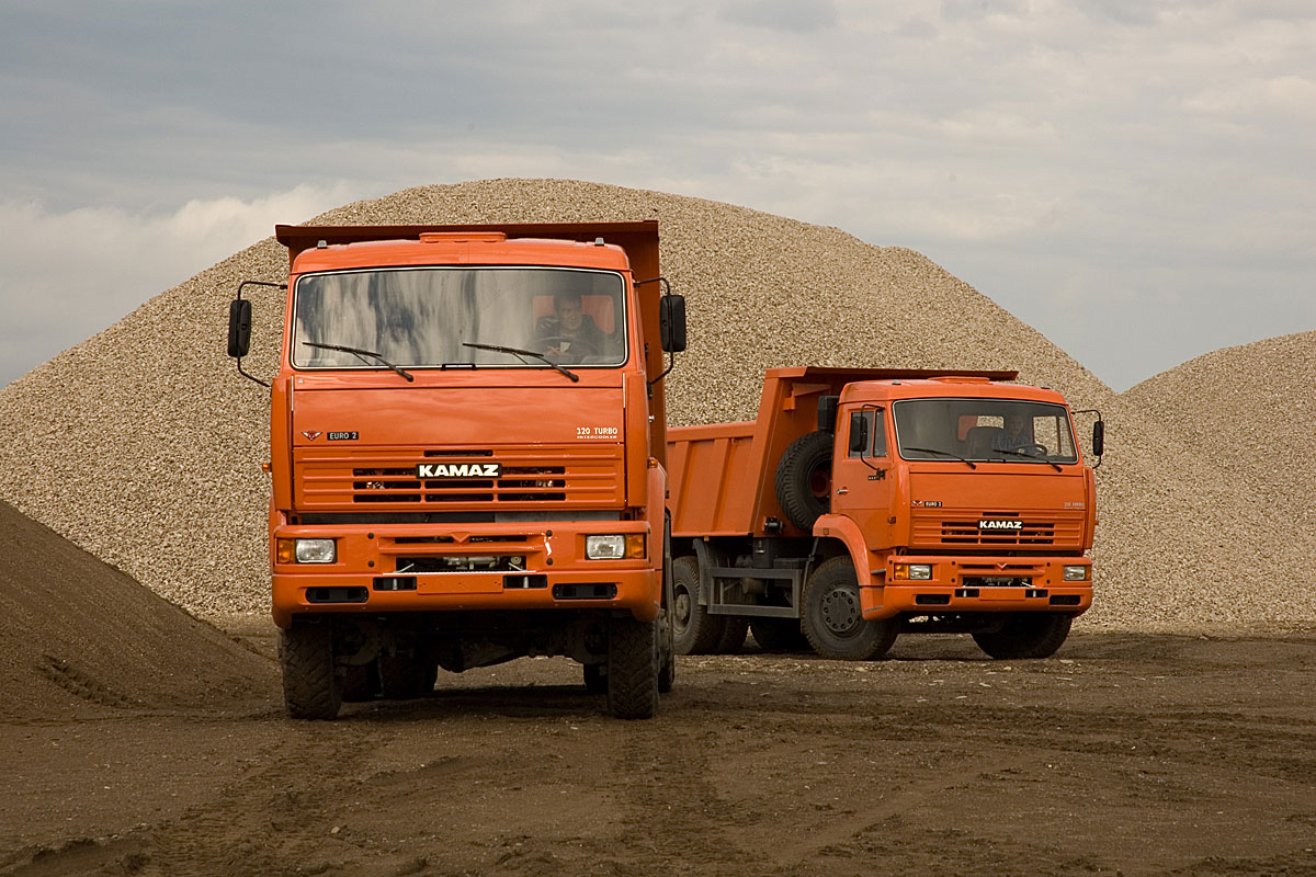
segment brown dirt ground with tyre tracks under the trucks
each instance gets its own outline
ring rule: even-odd
[[[579,678],[0,719],[0,874],[1316,874],[1316,632],[682,657],[650,722]]]

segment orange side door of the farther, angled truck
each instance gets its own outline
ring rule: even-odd
[[[891,459],[887,456],[886,412],[879,405],[842,409],[832,456],[832,511],[849,515],[869,539],[884,542],[890,530]]]

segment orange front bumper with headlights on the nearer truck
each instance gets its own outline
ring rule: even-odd
[[[644,534],[645,556],[588,560],[592,534]],[[280,563],[279,539],[334,539],[330,564]],[[661,542],[661,536],[659,536]],[[658,615],[662,569],[644,521],[468,525],[276,525],[272,614],[622,609]],[[451,569],[436,571],[449,567]],[[470,568],[463,568],[470,567]]]

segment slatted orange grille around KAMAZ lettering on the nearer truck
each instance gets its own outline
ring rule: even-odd
[[[436,458],[501,468],[495,477],[417,477],[416,467]],[[300,510],[600,508],[621,502],[622,484],[620,447],[299,448],[295,472]]]

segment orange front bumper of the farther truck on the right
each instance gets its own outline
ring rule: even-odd
[[[932,577],[898,577],[896,565],[932,567]],[[1084,567],[1087,579],[1066,581],[1065,567]],[[862,586],[863,617],[870,621],[901,613],[1061,611],[1079,615],[1092,606],[1092,561],[1088,557],[967,557],[899,555],[873,571]]]

